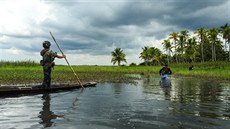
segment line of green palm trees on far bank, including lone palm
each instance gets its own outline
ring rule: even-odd
[[[144,62],[140,65],[230,61],[230,26],[198,28],[193,33],[187,30],[172,32],[162,45],[164,52],[156,47],[143,47],[139,58]],[[121,48],[115,48],[111,54],[111,63],[126,62]]]

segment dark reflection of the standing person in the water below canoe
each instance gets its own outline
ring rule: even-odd
[[[50,110],[50,95],[49,94],[43,94],[42,95],[42,100],[43,102],[43,107],[42,111],[39,112],[39,118],[41,118],[40,124],[42,124],[44,127],[50,127],[52,126],[53,122],[52,119],[56,119],[57,115],[55,115],[51,110]]]

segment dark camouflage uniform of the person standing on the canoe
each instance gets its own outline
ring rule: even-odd
[[[42,86],[43,88],[50,88],[51,85],[51,68],[54,66],[54,59],[57,57],[57,53],[49,50],[49,49],[43,49],[40,52],[43,60],[43,73],[44,73],[44,79]]]

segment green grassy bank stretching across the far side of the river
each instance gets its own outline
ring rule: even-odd
[[[189,71],[190,64],[172,64],[174,76],[194,76],[203,79],[230,81],[230,63],[196,63]],[[82,82],[132,82],[135,77],[127,74],[158,75],[161,66],[73,66]],[[43,79],[42,67],[33,62],[1,62],[0,84],[40,83]],[[77,82],[68,66],[55,66],[52,72],[53,82]]]

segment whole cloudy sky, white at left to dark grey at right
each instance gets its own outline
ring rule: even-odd
[[[230,0],[0,0],[0,60],[41,59],[42,42],[72,65],[112,65],[121,48],[139,64],[144,46],[162,49],[173,32],[230,24]],[[65,60],[56,59],[58,64]]]

